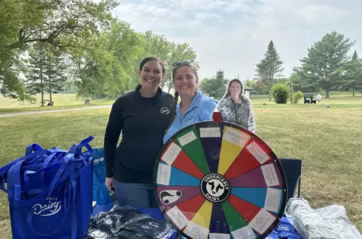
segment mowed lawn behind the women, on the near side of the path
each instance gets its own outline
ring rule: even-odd
[[[252,102],[257,135],[278,157],[303,159],[303,197],[313,207],[344,205],[362,231],[362,95],[335,95],[310,105],[277,105],[267,97],[254,97]],[[25,147],[34,142],[69,149],[94,135],[91,145],[102,147],[109,112],[84,109],[0,118],[0,165],[23,156]],[[11,238],[4,192],[0,192],[0,226],[0,238]]]

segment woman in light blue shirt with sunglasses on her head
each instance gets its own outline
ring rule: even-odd
[[[178,130],[200,121],[210,121],[218,104],[214,99],[197,91],[199,77],[193,61],[177,61],[173,63],[173,84],[175,99],[173,118],[166,130],[163,143],[167,142]],[[180,104],[177,104],[178,97]]]

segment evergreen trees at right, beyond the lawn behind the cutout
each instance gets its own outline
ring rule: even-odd
[[[269,94],[269,99],[271,87],[277,83],[293,85],[294,90],[302,92],[324,90],[326,98],[332,90],[351,91],[355,96],[356,90],[362,90],[362,59],[356,51],[349,56],[355,43],[339,32],[328,32],[308,49],[291,76],[285,78],[284,62],[271,41],[264,58],[256,65],[255,79],[247,80],[246,84],[256,94]]]

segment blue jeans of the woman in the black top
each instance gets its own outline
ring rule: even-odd
[[[142,183],[121,183],[115,180],[115,192],[119,206],[158,208],[153,195],[153,185]]]

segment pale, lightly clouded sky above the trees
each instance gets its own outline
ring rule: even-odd
[[[95,0],[94,0],[95,1]],[[362,56],[361,0],[118,0],[113,14],[138,32],[153,30],[197,53],[199,77],[218,69],[252,79],[270,40],[288,77],[307,49],[337,30]]]

